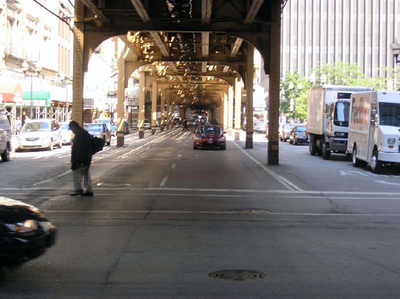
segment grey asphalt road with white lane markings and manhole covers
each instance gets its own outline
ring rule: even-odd
[[[192,147],[181,128],[93,156],[94,197],[71,197],[69,146],[12,152],[0,195],[58,228],[44,255],[0,269],[1,298],[397,298],[400,171],[310,156],[244,134]],[[247,271],[244,271],[247,270]],[[229,278],[229,279],[223,279]]]

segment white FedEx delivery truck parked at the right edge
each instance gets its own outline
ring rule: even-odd
[[[351,95],[347,151],[355,167],[379,173],[400,162],[400,91],[376,90]]]

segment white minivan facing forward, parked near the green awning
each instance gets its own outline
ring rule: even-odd
[[[18,135],[18,148],[46,148],[62,147],[61,126],[54,118],[31,119],[24,123]]]

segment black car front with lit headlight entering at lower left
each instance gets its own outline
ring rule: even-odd
[[[55,242],[56,227],[36,207],[0,196],[0,266],[25,262]]]

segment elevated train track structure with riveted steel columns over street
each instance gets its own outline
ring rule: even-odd
[[[280,17],[285,3],[286,0],[75,0],[72,118],[79,122],[83,119],[83,74],[90,55],[102,41],[118,36],[125,48],[117,59],[117,105],[124,106],[124,88],[137,70],[139,138],[144,136],[145,92],[151,91],[152,115],[157,104],[167,107],[165,113],[161,109],[162,129],[168,128],[163,119],[169,118],[174,105],[182,111],[187,107],[207,108],[235,138],[243,101],[248,124],[245,147],[252,148],[256,48],[269,76],[267,163],[278,164]],[[245,92],[242,99],[243,88],[251,92]],[[123,145],[123,112],[117,112],[117,146]]]

